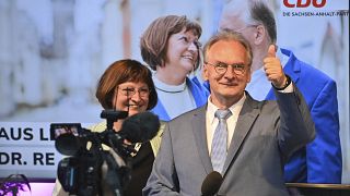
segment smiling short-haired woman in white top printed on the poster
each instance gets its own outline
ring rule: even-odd
[[[163,121],[207,102],[207,89],[197,77],[188,77],[200,64],[200,35],[198,23],[167,15],[154,20],[141,36],[142,58],[155,71],[159,101],[153,112]]]

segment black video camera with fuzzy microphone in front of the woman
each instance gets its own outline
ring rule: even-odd
[[[92,132],[80,123],[51,123],[50,136],[56,149],[66,156],[57,170],[63,189],[74,195],[104,195],[106,189],[113,195],[122,195],[122,188],[130,181],[132,143],[143,143],[153,138],[160,127],[159,118],[151,112],[135,114],[104,110],[101,118],[107,120],[107,128]],[[113,130],[113,123],[126,119],[120,131]],[[109,150],[103,148],[103,144]],[[103,169],[104,168],[104,169]],[[101,182],[106,182],[101,184]],[[107,185],[106,185],[107,184]]]

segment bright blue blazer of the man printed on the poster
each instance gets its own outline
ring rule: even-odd
[[[316,138],[284,166],[285,182],[341,183],[337,85],[319,70],[298,60],[293,52],[281,52],[289,57],[284,73],[303,94],[316,127]],[[276,99],[272,89],[266,99]]]

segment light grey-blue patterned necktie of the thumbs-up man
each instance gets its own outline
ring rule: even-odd
[[[223,164],[226,159],[228,151],[228,123],[226,119],[231,115],[231,111],[217,110],[215,118],[219,119],[219,124],[215,128],[211,145],[211,163],[214,171],[222,172]]]

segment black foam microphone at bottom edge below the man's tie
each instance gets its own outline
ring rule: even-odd
[[[203,183],[201,184],[201,195],[203,196],[213,196],[219,192],[219,188],[222,184],[222,176],[219,172],[212,171],[209,173]]]

